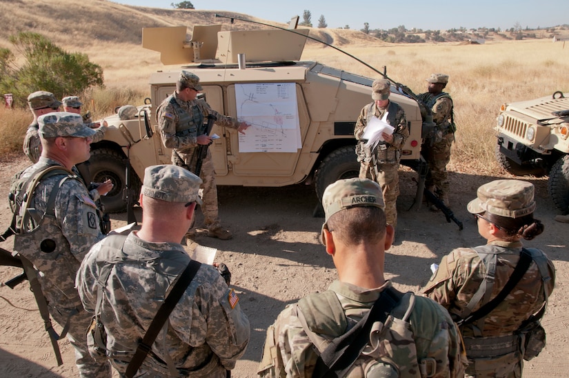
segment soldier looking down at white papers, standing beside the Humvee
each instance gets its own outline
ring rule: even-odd
[[[357,119],[354,135],[358,140],[356,154],[360,162],[359,178],[370,178],[381,186],[386,201],[387,223],[397,228],[397,196],[399,196],[399,160],[401,148],[409,137],[409,129],[403,108],[390,101],[391,83],[377,79],[372,84],[372,103],[364,106]],[[377,117],[389,123],[395,130],[392,134],[383,132],[377,147],[370,150],[363,139],[368,123]]]

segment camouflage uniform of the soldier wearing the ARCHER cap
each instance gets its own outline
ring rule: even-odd
[[[259,375],[311,377],[318,355],[299,312],[315,332],[312,335],[326,343],[352,328],[389,287],[390,281],[376,289],[334,281],[330,290],[309,295],[299,306],[286,307],[267,330]],[[339,299],[337,304],[330,300],[330,293]],[[372,328],[370,343],[346,377],[366,377],[366,373],[370,377],[457,377],[463,372],[462,361],[457,328],[448,312],[434,301],[408,293],[390,312],[385,327]],[[434,364],[428,366],[428,362]],[[372,369],[377,370],[370,373]]]

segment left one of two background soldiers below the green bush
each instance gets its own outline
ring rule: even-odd
[[[32,163],[37,163],[41,155],[41,142],[39,141],[37,118],[50,112],[57,112],[61,102],[57,101],[52,92],[38,90],[28,96],[28,106],[32,110],[34,120],[28,126],[26,137],[23,139],[23,153]]]

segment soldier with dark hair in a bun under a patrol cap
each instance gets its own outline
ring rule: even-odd
[[[468,376],[521,377],[523,359],[532,357],[528,350],[537,355],[545,345],[539,317],[555,285],[555,267],[541,250],[525,250],[520,241],[543,232],[543,224],[533,218],[535,207],[532,183],[496,180],[480,186],[467,209],[475,215],[486,246],[453,250],[423,288],[424,295],[442,304],[459,323]],[[528,252],[529,268],[519,273],[521,279],[509,292],[499,294]],[[499,303],[489,304],[490,312],[478,312],[495,297]],[[533,332],[539,329],[543,339]],[[534,340],[539,340],[539,348],[531,345]]]

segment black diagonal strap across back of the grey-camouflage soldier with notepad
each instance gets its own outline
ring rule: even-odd
[[[201,263],[198,261],[190,260],[190,263],[188,263],[188,266],[186,266],[186,269],[182,272],[176,284],[174,284],[172,291],[170,291],[168,297],[164,299],[164,303],[158,309],[154,319],[152,319],[152,323],[150,323],[148,330],[146,330],[146,335],[144,335],[142,341],[139,341],[137,350],[134,352],[134,356],[126,367],[125,376],[127,378],[133,377],[139,370],[142,362],[146,359],[146,355],[148,355],[148,352],[152,349],[152,344],[154,344],[154,340],[162,329],[163,324],[166,323],[166,320],[170,317],[170,313],[174,310],[174,307],[180,300],[183,292],[185,292],[186,288],[190,285],[192,279],[194,279],[200,266]]]

